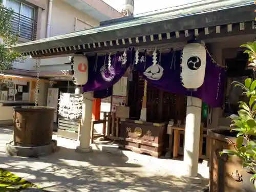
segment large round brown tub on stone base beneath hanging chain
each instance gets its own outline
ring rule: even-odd
[[[6,152],[17,156],[38,156],[52,153],[54,108],[45,106],[16,106],[13,119],[13,141]]]

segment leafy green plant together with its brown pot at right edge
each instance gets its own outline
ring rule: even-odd
[[[241,47],[247,48],[249,66],[255,71],[256,42]],[[232,83],[244,90],[249,102],[239,101],[238,114],[228,117],[231,129],[207,132],[211,138],[210,192],[256,191],[256,80]]]

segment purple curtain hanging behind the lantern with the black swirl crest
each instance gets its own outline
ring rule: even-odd
[[[163,75],[159,80],[152,80],[144,75],[145,69],[153,64],[152,56],[146,56],[145,58],[145,54],[143,53],[140,53],[139,56],[140,61],[137,64],[137,69],[139,73],[143,75],[144,79],[150,82],[154,87],[174,94],[200,98],[203,102],[212,107],[223,105],[226,71],[213,63],[209,55],[207,55],[204,83],[196,92],[188,92],[182,86],[180,80],[181,51],[161,55],[158,54],[158,61],[160,61],[160,65],[163,68]],[[145,60],[145,62],[143,62],[143,60]]]

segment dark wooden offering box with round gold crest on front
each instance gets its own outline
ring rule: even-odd
[[[120,119],[120,137],[125,148],[159,157],[163,152],[166,123]]]

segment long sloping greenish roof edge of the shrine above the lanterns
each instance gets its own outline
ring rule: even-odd
[[[201,5],[170,8],[169,11],[165,10],[163,13],[132,18],[126,22],[18,44],[14,50],[24,53],[141,35],[247,22],[254,19],[254,9],[254,2],[248,0],[207,0]],[[221,18],[219,15],[222,15]]]

